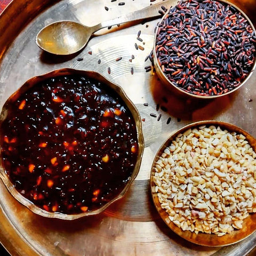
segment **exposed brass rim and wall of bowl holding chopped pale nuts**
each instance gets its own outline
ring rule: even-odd
[[[151,189],[151,195],[153,197],[153,202],[155,204],[155,207],[161,216],[161,218],[164,220],[166,225],[173,230],[176,234],[181,236],[182,238],[188,240],[189,242],[203,245],[203,246],[226,246],[230,244],[237,243],[239,241],[242,241],[246,237],[250,236],[255,230],[256,230],[256,213],[250,213],[249,217],[244,219],[243,221],[243,227],[240,230],[234,230],[231,232],[231,234],[226,234],[223,236],[217,236],[215,234],[206,234],[199,232],[198,234],[191,232],[191,231],[183,231],[181,228],[176,226],[170,219],[169,214],[166,213],[164,209],[162,209],[161,204],[158,201],[157,193],[155,193],[155,183],[153,181],[153,175],[154,170],[156,167],[156,162],[158,161],[159,157],[163,154],[163,151],[166,147],[169,147],[171,145],[171,142],[175,140],[178,134],[183,133],[187,131],[188,129],[193,129],[195,127],[199,127],[202,125],[210,126],[220,126],[222,129],[226,129],[229,132],[236,132],[239,134],[243,134],[246,137],[246,140],[250,143],[251,147],[254,151],[256,151],[256,139],[252,137],[249,133],[244,131],[243,129],[229,123],[224,123],[220,121],[200,121],[196,123],[192,123],[189,125],[186,125],[179,129],[178,131],[174,132],[159,148],[153,165],[151,167],[151,174],[150,174],[150,189]]]

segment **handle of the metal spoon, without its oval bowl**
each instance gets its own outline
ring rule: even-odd
[[[98,25],[95,25],[92,28],[94,29],[94,32],[96,32],[101,28],[106,28],[106,27],[118,25],[121,23],[129,22],[129,21],[136,21],[136,20],[158,17],[158,16],[161,16],[161,13],[159,13],[159,10],[161,10],[161,6],[164,6],[167,10],[169,10],[170,7],[175,4],[177,4],[177,0],[163,1],[160,3],[145,7],[141,10],[131,12],[128,14],[124,14],[118,18],[103,21],[103,22],[99,23]]]

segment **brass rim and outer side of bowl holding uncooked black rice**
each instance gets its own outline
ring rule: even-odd
[[[241,10],[239,9],[239,7],[237,7],[235,4],[233,3],[230,3],[229,1],[226,1],[226,0],[218,0],[218,2],[221,2],[221,3],[226,3],[226,4],[229,4],[231,6],[233,6],[238,12],[240,12],[243,17],[250,23],[252,29],[254,30],[254,33],[256,34],[256,30],[253,26],[253,23],[251,22],[251,20],[249,19],[249,17],[247,17],[247,15]],[[165,86],[165,88],[167,90],[170,90],[172,92],[174,92],[175,94],[177,94],[179,97],[182,97],[182,98],[197,98],[197,99],[215,99],[215,98],[219,98],[219,97],[222,97],[224,95],[228,95],[232,92],[235,92],[236,90],[240,89],[243,85],[246,84],[246,82],[250,79],[254,69],[256,68],[256,56],[254,58],[254,63],[253,63],[253,67],[252,67],[252,70],[251,72],[246,76],[246,78],[244,79],[243,82],[241,82],[238,86],[236,86],[233,90],[231,91],[228,91],[226,93],[222,93],[222,94],[219,94],[219,95],[197,95],[197,94],[193,94],[193,93],[190,93],[186,90],[183,90],[182,88],[174,85],[167,77],[166,75],[164,74],[161,66],[159,65],[158,63],[158,60],[157,60],[157,55],[156,55],[156,38],[157,38],[157,30],[158,30],[158,26],[159,24],[162,23],[162,21],[165,19],[166,15],[169,13],[169,10],[165,13],[165,15],[162,17],[161,21],[159,21],[157,27],[156,27],[156,33],[155,33],[155,36],[154,36],[154,47],[153,47],[153,57],[154,57],[154,67],[155,67],[155,70],[156,70],[156,74],[157,76],[159,77],[159,79],[161,79],[161,82],[163,83],[163,85]],[[256,46],[255,46],[256,47]]]

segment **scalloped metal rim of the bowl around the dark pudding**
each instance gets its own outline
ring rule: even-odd
[[[139,172],[141,159],[142,159],[142,153],[143,153],[143,149],[144,149],[144,141],[143,141],[143,135],[142,135],[140,114],[139,114],[137,108],[135,108],[135,106],[133,105],[132,101],[126,96],[123,89],[120,86],[110,82],[107,78],[103,77],[102,75],[100,75],[94,71],[76,70],[76,69],[71,69],[71,68],[63,68],[63,69],[53,70],[50,73],[30,78],[15,93],[13,93],[11,95],[11,97],[9,99],[7,99],[7,101],[5,102],[2,112],[1,112],[1,116],[0,116],[0,126],[1,126],[2,122],[4,121],[4,119],[6,118],[6,115],[9,111],[8,106],[13,101],[15,101],[19,97],[20,94],[27,91],[30,87],[33,87],[35,84],[44,81],[45,79],[48,79],[51,77],[65,76],[65,75],[81,75],[81,76],[93,78],[99,82],[102,82],[103,84],[107,85],[108,87],[110,87],[111,89],[116,91],[118,93],[118,95],[123,99],[126,106],[130,109],[132,116],[134,118],[136,127],[137,127],[137,138],[138,138],[138,157],[137,157],[137,162],[135,164],[135,167],[134,167],[134,170],[133,170],[130,180],[126,183],[125,187],[123,188],[123,190],[121,191],[121,193],[119,195],[112,198],[111,201],[107,202],[105,205],[101,206],[99,209],[84,212],[84,213],[79,213],[79,214],[63,214],[63,213],[58,213],[58,212],[45,211],[45,210],[39,208],[38,206],[36,206],[35,204],[31,203],[27,198],[23,197],[14,188],[10,179],[7,177],[5,170],[2,166],[2,161],[0,163],[0,177],[3,180],[6,188],[13,195],[13,197],[15,199],[17,199],[21,204],[27,206],[28,209],[30,209],[32,212],[42,215],[44,217],[49,217],[49,218],[74,220],[74,219],[78,219],[78,218],[81,218],[81,217],[84,217],[87,215],[99,214],[102,211],[104,211],[110,204],[114,203],[118,199],[121,199],[125,195],[126,191],[131,186],[132,181],[135,179],[135,177],[137,176],[137,174]]]

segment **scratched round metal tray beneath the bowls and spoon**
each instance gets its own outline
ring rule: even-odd
[[[161,85],[155,73],[145,72],[145,66],[150,65],[145,58],[153,49],[158,20],[103,29],[77,55],[50,56],[34,42],[37,31],[43,26],[61,19],[77,20],[90,26],[146,7],[150,1],[127,0],[123,6],[118,5],[121,1],[110,0],[62,0],[49,6],[50,2],[13,0],[0,16],[0,108],[30,77],[64,67],[94,70],[121,85],[135,103],[141,117],[145,118],[142,123],[146,147],[138,177],[126,196],[103,213],[89,218],[61,221],[39,217],[15,201],[0,182],[0,241],[12,255],[21,256],[247,255],[254,248],[255,233],[238,244],[222,248],[194,245],[175,235],[157,214],[151,200],[149,177],[157,149],[173,131],[191,122],[203,119],[225,121],[256,136],[256,75],[253,74],[241,90],[221,99],[198,102],[175,98]],[[233,2],[255,25],[256,2]],[[143,42],[137,40],[139,30]],[[136,50],[135,43],[144,50]],[[132,54],[134,59],[130,61]],[[115,61],[117,57],[122,60]],[[143,105],[145,102],[148,106]],[[160,106],[158,110],[157,105]],[[150,113],[161,114],[161,119],[157,121],[157,117]],[[169,117],[171,122],[166,124]]]

